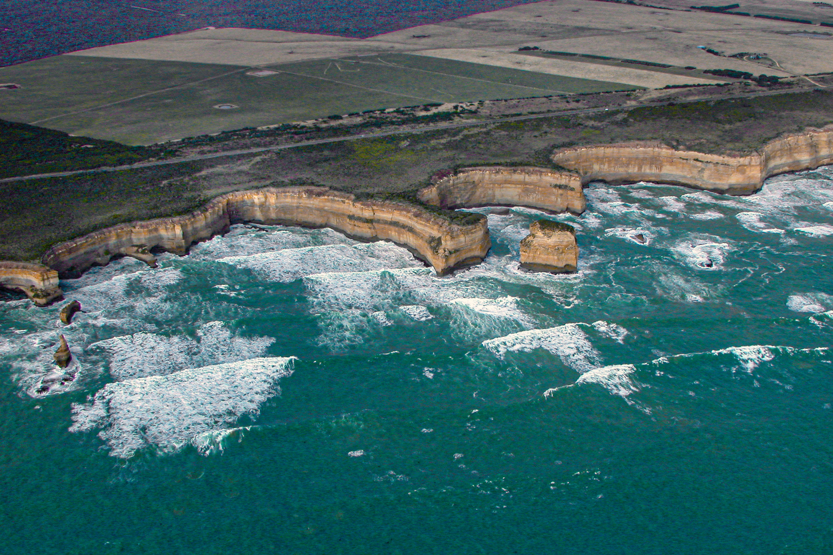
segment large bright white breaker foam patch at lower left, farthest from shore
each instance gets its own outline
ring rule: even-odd
[[[207,432],[232,428],[278,394],[293,358],[250,359],[105,385],[87,404],[72,405],[72,432],[102,429],[113,457],[154,446],[172,453]]]

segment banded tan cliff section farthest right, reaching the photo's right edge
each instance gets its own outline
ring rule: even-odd
[[[619,144],[564,148],[552,154],[556,164],[577,171],[582,183],[611,185],[652,181],[750,195],[767,177],[811,170],[833,163],[833,129],[810,129],[768,142],[748,156],[676,151],[659,144]]]

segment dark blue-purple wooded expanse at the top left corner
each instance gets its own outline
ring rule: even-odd
[[[527,3],[517,0],[12,0],[0,2],[0,66],[201,27],[372,37]]]

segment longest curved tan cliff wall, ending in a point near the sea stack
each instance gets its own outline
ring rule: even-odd
[[[445,275],[479,263],[491,246],[486,218],[472,220],[456,225],[416,206],[357,201],[327,187],[270,187],[219,196],[186,216],[121,224],[84,235],[52,247],[43,255],[43,263],[62,275],[77,275],[91,265],[107,264],[116,255],[136,256],[154,248],[184,255],[192,243],[220,234],[233,223],[254,221],[330,227],[361,240],[392,240]]]

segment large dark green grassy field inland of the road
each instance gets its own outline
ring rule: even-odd
[[[430,102],[471,102],[629,87],[407,54],[248,68],[61,56],[2,68],[0,119],[127,145]],[[235,108],[219,110],[229,103]]]

